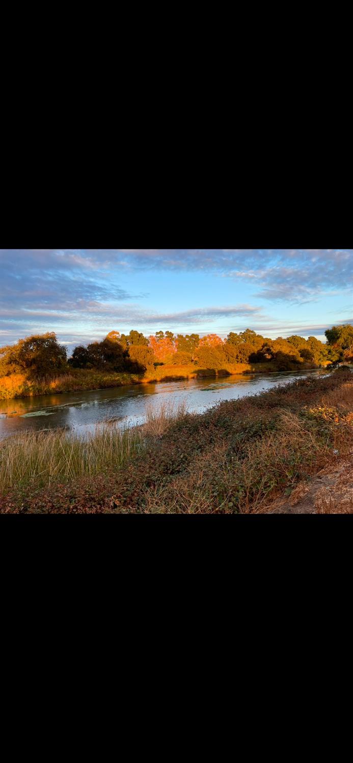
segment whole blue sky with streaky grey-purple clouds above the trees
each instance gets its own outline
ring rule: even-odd
[[[345,323],[351,249],[0,250],[2,346],[55,331],[70,351],[131,329],[325,341]]]

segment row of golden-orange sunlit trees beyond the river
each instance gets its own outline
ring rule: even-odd
[[[220,370],[236,363],[276,362],[280,371],[293,363],[314,365],[353,361],[353,326],[333,326],[325,331],[326,343],[315,336],[288,336],[276,340],[251,329],[231,332],[225,340],[217,334],[177,334],[157,331],[154,336],[131,330],[110,331],[101,342],[79,345],[67,356],[53,332],[29,336],[0,348],[0,376],[25,373],[28,378],[57,375],[72,369],[104,372],[152,372],[157,365],[189,365]]]

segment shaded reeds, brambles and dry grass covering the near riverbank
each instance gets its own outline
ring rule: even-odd
[[[8,438],[0,510],[267,513],[352,452],[353,377],[342,368],[205,414],[147,410],[146,423],[125,432],[112,422],[84,440],[57,430]]]

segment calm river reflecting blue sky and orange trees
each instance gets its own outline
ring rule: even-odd
[[[303,376],[325,373],[319,370],[236,375],[0,401],[0,439],[25,430],[57,427],[85,432],[107,419],[118,420],[121,425],[140,424],[147,402],[158,407],[163,401],[177,403],[185,398],[190,412],[202,412],[220,400],[243,398]]]

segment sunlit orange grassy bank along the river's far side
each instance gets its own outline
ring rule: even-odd
[[[0,400],[35,398],[40,395],[63,394],[65,392],[88,392],[96,389],[112,389],[128,385],[157,384],[167,381],[189,381],[196,378],[222,378],[238,374],[261,374],[286,371],[305,371],[316,369],[313,363],[289,363],[283,369],[276,362],[267,363],[228,363],[224,369],[201,369],[196,365],[158,365],[144,375],[129,373],[103,373],[72,369],[56,378],[44,378],[30,381],[22,374],[12,374],[0,378]]]

